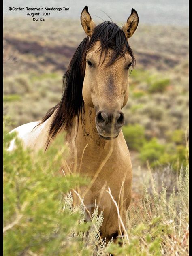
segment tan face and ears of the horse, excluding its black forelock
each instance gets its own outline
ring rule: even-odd
[[[137,12],[132,13],[122,30],[127,39],[132,36],[138,25]],[[81,24],[85,33],[91,37],[95,24],[86,8],[81,13]],[[86,55],[83,100],[96,111],[96,128],[103,139],[116,138],[124,125],[122,107],[128,100],[128,69],[132,58],[128,53],[117,58],[111,65],[113,50],[100,51],[101,43],[96,41]]]

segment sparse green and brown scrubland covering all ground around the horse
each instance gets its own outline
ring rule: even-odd
[[[38,29],[25,18],[4,22],[4,255],[188,255],[188,28],[165,33],[164,26],[139,25],[130,39],[137,65],[123,132],[133,195],[122,247],[100,240],[102,213],[85,222],[83,201],[72,205],[67,192],[88,181],[55,175],[63,159],[57,141],[48,155],[34,157],[19,141],[6,151],[14,136],[8,130],[59,102],[62,76],[84,36],[79,21],[50,18]]]

